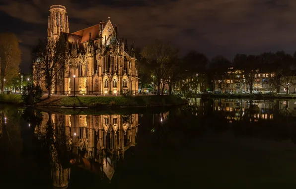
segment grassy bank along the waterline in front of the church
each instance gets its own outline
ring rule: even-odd
[[[0,102],[25,104],[20,95],[0,95]],[[144,95],[144,96],[58,96],[42,97],[36,106],[47,107],[156,107],[186,103],[176,96]]]

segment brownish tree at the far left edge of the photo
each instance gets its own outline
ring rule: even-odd
[[[20,49],[13,33],[0,33],[0,80],[1,92],[4,86],[19,73]]]

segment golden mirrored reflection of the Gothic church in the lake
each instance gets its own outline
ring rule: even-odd
[[[136,145],[138,114],[64,115],[43,113],[35,133],[48,134],[52,122],[52,180],[56,188],[67,188],[70,167],[78,166],[112,179],[116,163],[125,151]],[[69,152],[68,154],[65,152]],[[66,158],[65,158],[66,157]],[[67,158],[69,157],[69,158]],[[67,165],[67,163],[70,165]]]

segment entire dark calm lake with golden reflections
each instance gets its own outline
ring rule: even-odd
[[[294,188],[296,101],[167,109],[0,105],[1,188]]]

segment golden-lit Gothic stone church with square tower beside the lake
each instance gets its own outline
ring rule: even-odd
[[[118,39],[117,26],[110,17],[105,22],[70,33],[65,6],[52,5],[48,17],[48,40],[63,40],[71,54],[63,78],[55,82],[53,94],[117,95],[131,91],[138,94],[138,71],[134,44]],[[35,63],[37,64],[37,63]],[[33,75],[37,75],[33,71]],[[44,81],[35,77],[43,91]],[[75,80],[75,81],[74,81]],[[74,87],[75,83],[75,87]]]

